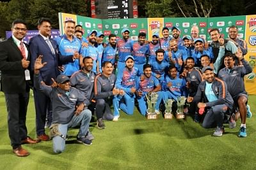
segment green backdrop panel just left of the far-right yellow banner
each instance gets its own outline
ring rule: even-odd
[[[236,25],[238,29],[239,38],[244,39],[245,17],[246,17],[245,15],[241,15],[241,16],[232,16],[232,17],[208,18],[207,32],[209,32],[212,28],[218,28],[220,30],[221,36],[224,38],[228,38],[228,28],[231,25]],[[211,41],[209,34],[207,34],[207,40]]]

